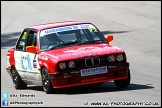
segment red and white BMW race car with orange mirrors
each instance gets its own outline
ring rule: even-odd
[[[7,52],[7,68],[15,89],[42,86],[49,94],[57,88],[99,85],[114,81],[130,84],[129,62],[123,49],[110,42],[92,23],[63,21],[25,28]]]

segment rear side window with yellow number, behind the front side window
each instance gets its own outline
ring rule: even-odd
[[[27,40],[27,35],[28,35],[28,30],[24,30],[18,40],[18,43],[16,45],[16,50],[17,51],[25,51],[26,47],[26,40]]]

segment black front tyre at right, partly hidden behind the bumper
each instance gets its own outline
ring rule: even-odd
[[[127,76],[128,77],[126,79],[114,80],[114,83],[116,84],[116,86],[120,88],[128,86],[130,84],[130,79],[131,79],[129,69],[128,69]]]

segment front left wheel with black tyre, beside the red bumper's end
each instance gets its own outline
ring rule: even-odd
[[[48,75],[48,71],[46,68],[42,69],[42,85],[43,85],[43,89],[47,94],[50,94],[53,92],[53,87],[52,87],[52,83],[50,81],[49,75]]]

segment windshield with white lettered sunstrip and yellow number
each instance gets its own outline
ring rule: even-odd
[[[105,37],[92,24],[50,28],[40,33],[41,51],[98,42],[107,43]]]

